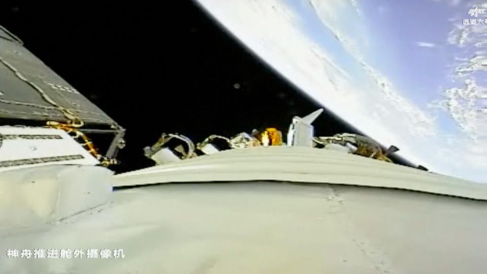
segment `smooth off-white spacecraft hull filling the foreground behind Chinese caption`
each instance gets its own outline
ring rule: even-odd
[[[162,184],[95,211],[2,231],[0,249],[122,249],[8,259],[2,273],[483,273],[484,201],[332,184]]]

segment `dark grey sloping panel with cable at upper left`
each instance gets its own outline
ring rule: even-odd
[[[0,62],[0,91],[2,92],[0,93],[0,117],[66,120],[59,110],[43,99],[39,91],[16,75],[12,70],[13,67],[29,82],[40,87],[59,106],[73,111],[86,123],[115,124],[106,113],[10,37],[5,30],[0,30],[0,57],[2,58],[2,62]]]

